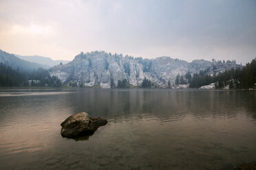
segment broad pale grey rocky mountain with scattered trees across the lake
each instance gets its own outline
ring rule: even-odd
[[[110,88],[111,82],[117,86],[118,80],[129,80],[132,86],[140,86],[143,79],[148,80],[160,87],[167,87],[168,82],[175,83],[175,77],[185,75],[187,72],[199,73],[205,70],[208,74],[220,73],[225,70],[242,68],[235,61],[206,61],[173,59],[160,57],[156,59],[142,59],[131,56],[123,57],[106,53],[105,51],[93,51],[80,53],[72,62],[58,65],[50,69],[50,75],[60,78],[61,82],[83,84],[83,86],[100,86]]]

